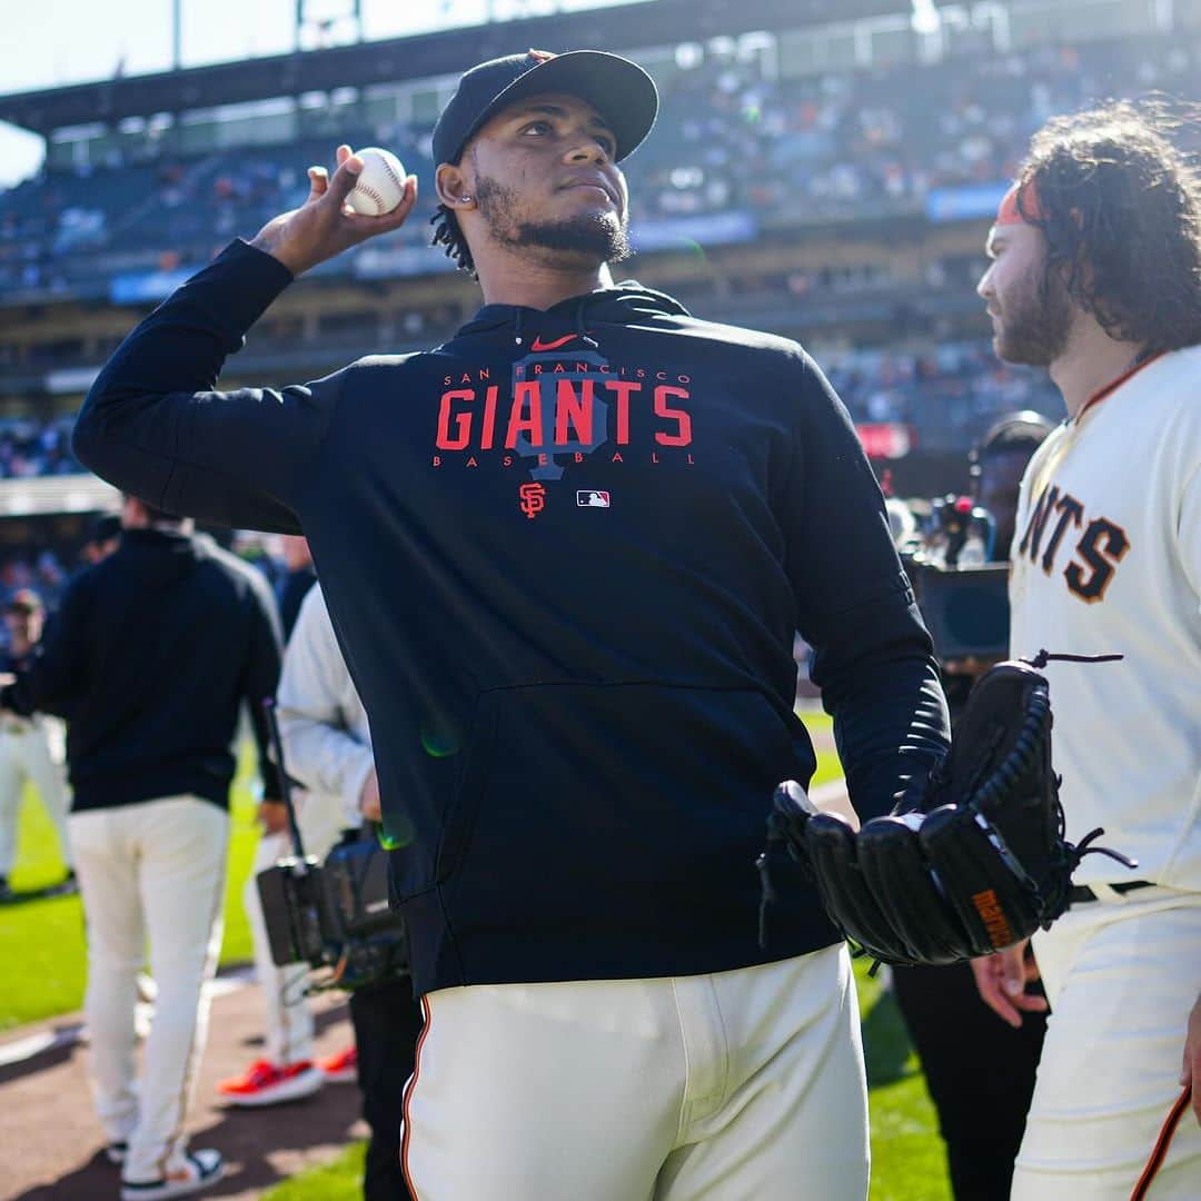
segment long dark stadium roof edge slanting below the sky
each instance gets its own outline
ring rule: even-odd
[[[908,11],[908,0],[838,0],[837,5],[829,0],[656,0],[13,92],[0,96],[0,120],[47,135],[97,120],[458,74],[473,62],[530,46],[635,49]]]

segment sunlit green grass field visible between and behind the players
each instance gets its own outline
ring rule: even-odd
[[[806,711],[806,724],[819,746],[813,782],[841,775],[837,757],[821,751],[830,719]],[[243,757],[234,783],[232,836],[226,880],[226,925],[222,963],[251,957],[250,932],[241,890],[250,872],[257,831],[249,782],[253,759]],[[55,884],[62,876],[49,819],[32,796],[20,811],[20,843],[12,884],[18,892]],[[47,897],[0,908],[0,1033],[25,1022],[78,1010],[83,1004],[83,910],[78,897]],[[22,964],[22,970],[16,970]],[[871,1201],[950,1201],[945,1160],[937,1123],[916,1058],[890,993],[867,978],[867,964],[855,964],[872,1111]],[[363,1146],[348,1147],[323,1167],[313,1169],[264,1194],[269,1201],[357,1201],[362,1196]]]

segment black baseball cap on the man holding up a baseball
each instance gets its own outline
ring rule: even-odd
[[[604,50],[527,50],[472,67],[434,126],[434,165],[458,162],[483,124],[522,96],[558,91],[586,100],[617,139],[616,160],[635,150],[659,110],[655,80],[637,64]]]

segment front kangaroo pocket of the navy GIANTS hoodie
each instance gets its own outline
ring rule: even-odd
[[[731,888],[758,888],[773,787],[812,772],[796,725],[752,689],[488,694],[438,855],[452,922],[485,933],[518,921],[531,937],[568,924],[586,938],[673,913],[716,919]]]

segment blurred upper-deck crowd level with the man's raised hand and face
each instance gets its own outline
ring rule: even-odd
[[[628,165],[634,241],[640,223],[698,214],[795,223],[916,211],[934,190],[1011,178],[1048,114],[1106,92],[1188,94],[1199,61],[1196,35],[779,78],[711,54],[664,78],[656,138]],[[113,147],[101,163],[46,171],[0,196],[0,289],[54,291],[127,269],[133,255],[197,265],[299,204],[305,167],[335,141],[387,145],[429,179],[430,137],[410,123],[342,123],[258,147],[252,161],[244,149],[181,157],[165,137]],[[429,190],[419,203],[432,213]],[[420,245],[426,232],[414,220],[393,238]]]

